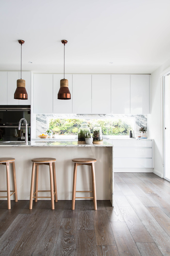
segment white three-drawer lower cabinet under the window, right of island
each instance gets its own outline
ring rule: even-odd
[[[152,172],[153,140],[112,140],[115,172]]]

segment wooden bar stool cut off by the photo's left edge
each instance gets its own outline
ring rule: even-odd
[[[12,172],[13,172],[13,183],[14,183],[14,190],[10,190],[10,165],[12,164]],[[18,202],[17,198],[17,189],[16,189],[16,174],[15,174],[15,158],[11,157],[3,157],[0,158],[0,164],[6,165],[6,183],[7,183],[7,190],[1,190],[0,192],[7,192],[7,197],[0,197],[0,198],[7,198],[8,203],[8,210],[11,209],[11,195],[15,195],[15,202]],[[10,195],[10,192],[13,192]]]

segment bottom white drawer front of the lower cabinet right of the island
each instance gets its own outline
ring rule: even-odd
[[[152,168],[152,159],[115,158],[114,168]]]

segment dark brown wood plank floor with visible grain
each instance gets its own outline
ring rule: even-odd
[[[153,173],[115,173],[110,201],[0,201],[2,256],[170,255],[170,182]]]

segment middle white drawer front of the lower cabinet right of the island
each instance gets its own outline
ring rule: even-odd
[[[114,148],[114,157],[152,157],[152,148]]]

